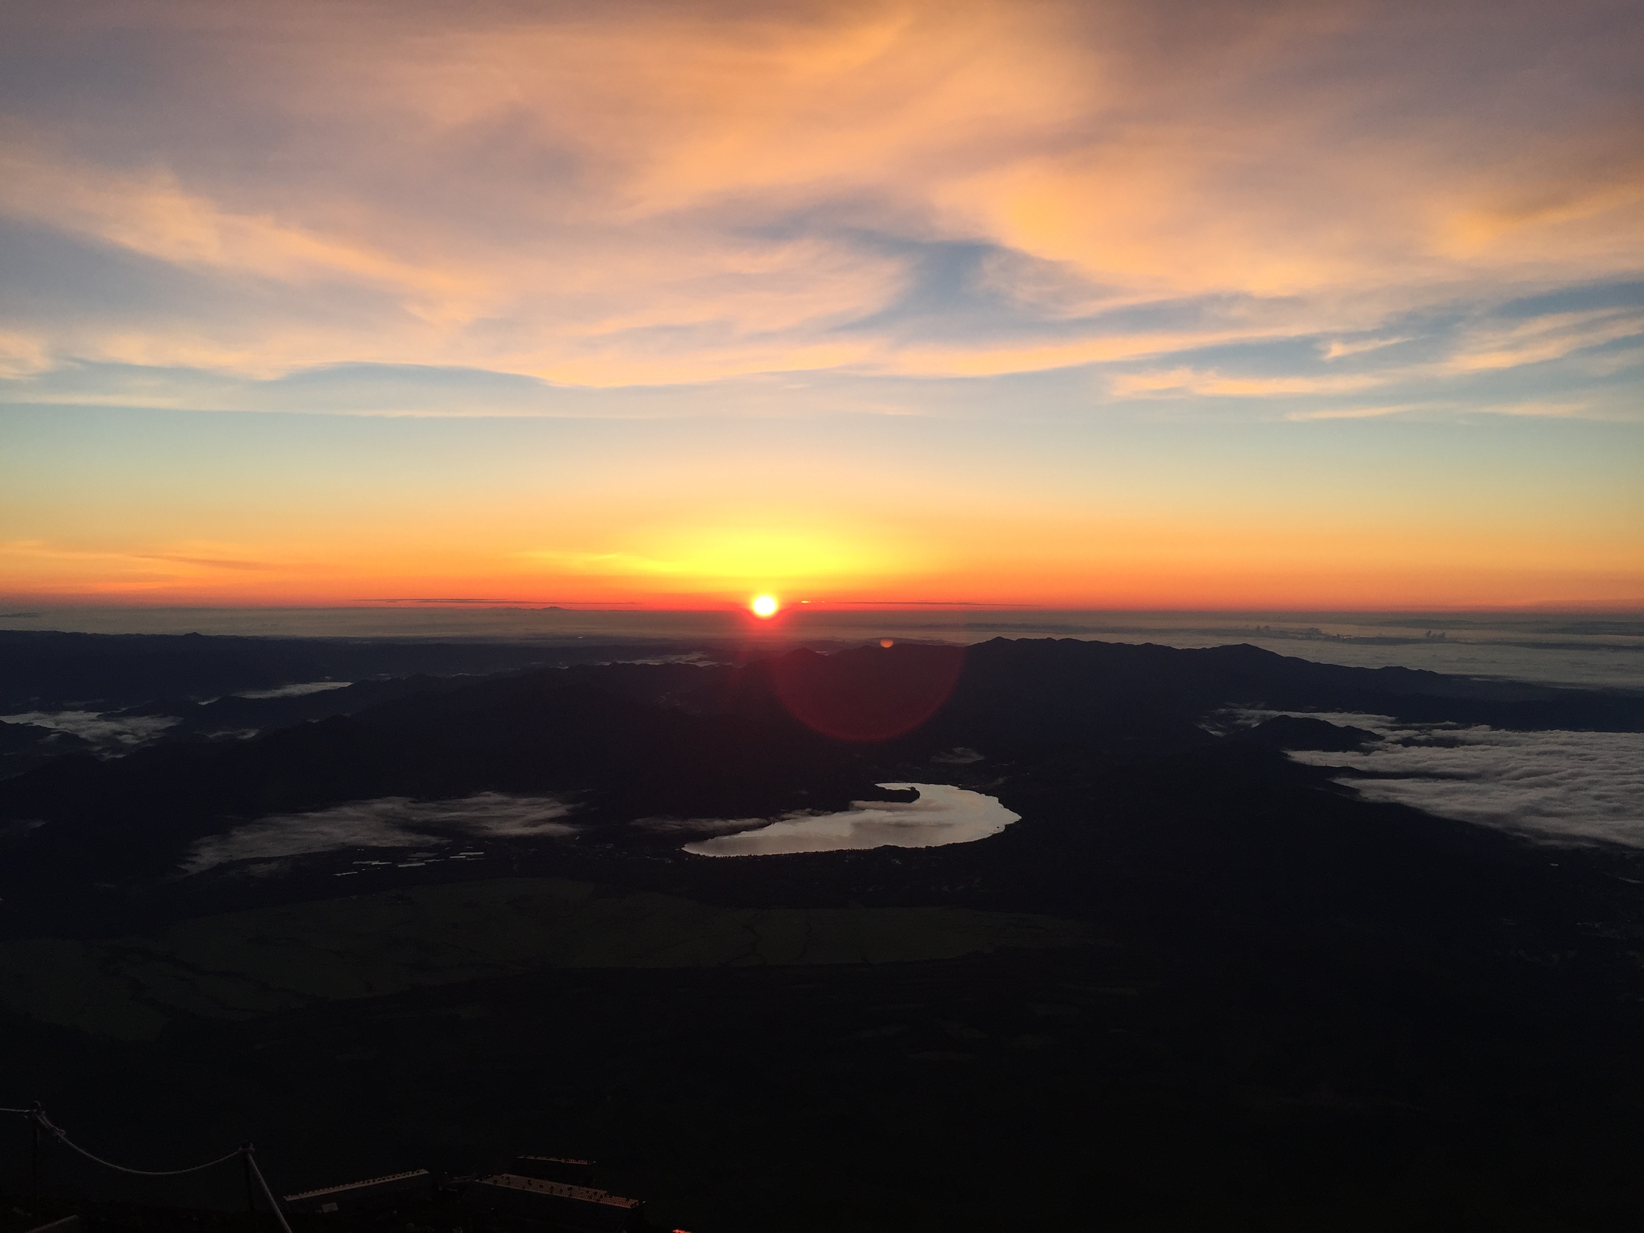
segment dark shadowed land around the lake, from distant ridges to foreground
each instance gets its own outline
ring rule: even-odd
[[[120,1162],[255,1139],[291,1192],[592,1156],[695,1233],[1644,1223],[1644,860],[1369,804],[1286,755],[1374,740],[1309,712],[1636,732],[1634,695],[1004,640],[100,640],[99,676],[12,638],[16,712],[163,722],[10,733],[0,779],[0,1103]],[[694,651],[720,663],[602,663]],[[355,684],[230,692],[326,676]],[[679,848],[695,819],[906,799],[880,783],[1021,820]],[[182,873],[270,817],[477,794],[567,812]],[[59,1195],[243,1203],[232,1174],[46,1164]]]

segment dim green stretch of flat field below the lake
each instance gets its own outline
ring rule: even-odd
[[[737,909],[511,878],[227,912],[141,937],[5,942],[0,1003],[143,1041],[186,1016],[250,1019],[543,968],[899,963],[1092,940],[1087,926],[1018,912]]]

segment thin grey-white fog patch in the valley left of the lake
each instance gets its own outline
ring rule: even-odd
[[[273,861],[345,848],[427,848],[462,837],[496,838],[569,835],[559,822],[570,806],[551,796],[478,792],[459,801],[411,801],[385,796],[352,801],[311,814],[279,814],[209,835],[189,848],[184,873],[204,873],[235,861]]]

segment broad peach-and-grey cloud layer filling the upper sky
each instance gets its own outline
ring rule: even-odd
[[[416,360],[587,386],[1322,332],[1348,358],[1399,314],[1644,268],[1626,13],[1578,10],[35,10],[0,217],[85,279],[0,302],[0,329],[28,326],[25,373]],[[115,30],[141,33],[118,79]],[[955,243],[986,253],[957,281],[929,260]]]

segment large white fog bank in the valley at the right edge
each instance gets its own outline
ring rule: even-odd
[[[1276,712],[1261,718],[1269,713]],[[1386,715],[1312,718],[1384,738],[1356,753],[1291,753],[1312,766],[1392,776],[1338,781],[1368,801],[1542,838],[1644,847],[1644,733],[1506,732]]]

